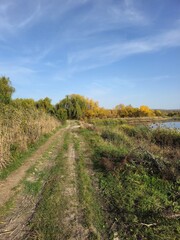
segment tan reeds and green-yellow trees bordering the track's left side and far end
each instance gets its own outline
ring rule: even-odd
[[[53,105],[48,97],[38,101],[12,99],[14,92],[9,78],[0,77],[0,168],[5,168],[40,136],[50,133],[67,119],[114,118],[129,123],[164,119],[161,111],[147,106],[134,108],[119,104],[114,109],[105,109],[98,102],[78,94],[67,95]]]

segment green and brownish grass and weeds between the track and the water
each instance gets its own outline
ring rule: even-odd
[[[82,134],[94,152],[94,169],[99,178],[100,192],[113,223],[111,236],[118,232],[119,238],[124,240],[178,239],[178,217],[169,217],[180,213],[178,175],[167,178],[174,163],[167,158],[164,162],[165,155],[161,156],[160,151],[158,158],[153,156],[153,152],[149,153],[153,133],[144,127],[119,124],[104,130],[104,123],[100,126],[99,122],[94,129],[82,130]],[[145,150],[141,152],[139,147]],[[136,149],[134,152],[133,148]],[[159,168],[151,171],[155,163]]]

